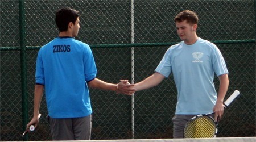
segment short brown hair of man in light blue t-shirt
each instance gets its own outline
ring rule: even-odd
[[[187,20],[190,24],[197,24],[199,19],[196,12],[190,10],[184,10],[174,18],[175,22],[183,22],[184,20]]]

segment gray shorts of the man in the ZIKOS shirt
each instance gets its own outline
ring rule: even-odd
[[[52,140],[90,140],[92,116],[82,118],[49,118]]]

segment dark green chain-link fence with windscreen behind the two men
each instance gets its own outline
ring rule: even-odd
[[[97,77],[113,83],[136,83],[154,73],[167,48],[180,41],[174,16],[186,9],[197,12],[197,34],[216,43],[228,65],[227,97],[235,89],[241,92],[225,110],[218,137],[255,136],[255,1],[1,0],[0,141],[51,140],[44,98],[38,130],[21,135],[32,117],[36,55],[57,36],[55,11],[62,7],[80,11],[77,39],[91,45]],[[101,90],[90,90],[90,96],[92,139],[172,137],[177,96],[172,76],[134,97]]]

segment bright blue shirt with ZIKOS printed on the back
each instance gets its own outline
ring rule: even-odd
[[[44,45],[36,60],[36,83],[44,85],[49,116],[77,118],[92,113],[86,81],[96,78],[89,45],[57,37]]]

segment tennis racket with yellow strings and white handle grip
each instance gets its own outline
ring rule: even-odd
[[[235,90],[234,93],[224,102],[224,106],[228,107],[239,94],[240,92]],[[216,137],[218,132],[218,120],[215,121],[214,118],[210,116],[211,114],[214,114],[214,112],[200,114],[191,118],[185,125],[183,131],[184,138]]]

